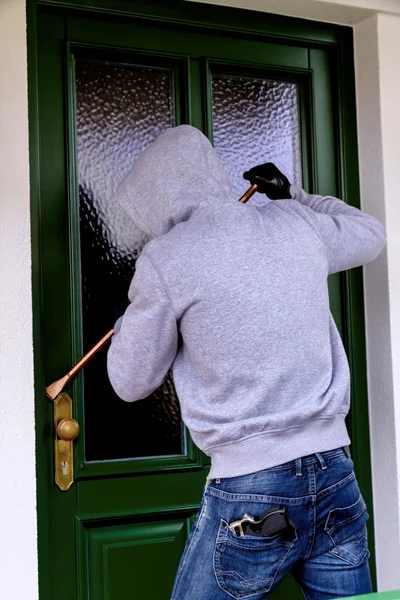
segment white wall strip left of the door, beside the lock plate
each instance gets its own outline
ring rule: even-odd
[[[0,1],[0,596],[37,598],[25,1]]]

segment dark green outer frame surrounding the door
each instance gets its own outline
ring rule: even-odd
[[[307,42],[312,48],[329,50],[335,72],[336,85],[332,90],[334,99],[334,123],[336,129],[336,187],[338,195],[349,204],[360,207],[357,121],[355,100],[355,77],[353,56],[353,31],[351,27],[306,21],[268,13],[196,4],[184,0],[162,2],[138,2],[137,0],[28,0],[28,101],[29,101],[29,147],[31,181],[31,236],[32,236],[32,294],[33,294],[33,341],[35,366],[35,419],[36,419],[36,473],[39,552],[39,590],[41,600],[50,600],[47,584],[47,560],[52,551],[48,547],[46,528],[49,515],[47,502],[47,468],[45,439],[49,424],[43,402],[46,402],[44,368],[41,357],[42,303],[41,303],[41,254],[40,254],[40,137],[37,87],[37,13],[41,10],[62,12],[89,12],[105,17],[134,18],[135,20],[159,22],[160,24],[186,24],[202,30],[233,32],[244,38],[269,43],[285,43],[296,46]],[[317,190],[310,190],[317,191]],[[368,421],[367,371],[364,326],[364,297],[362,269],[354,269],[340,275],[343,294],[343,341],[352,375],[351,418],[349,433],[352,439],[352,455],[356,464],[361,491],[372,516],[372,479],[370,464],[370,438]],[[47,382],[48,383],[48,382]],[[365,459],[368,457],[368,459]],[[369,535],[370,547],[374,548],[372,519]],[[60,543],[62,541],[60,540]],[[375,581],[375,560],[371,561]]]

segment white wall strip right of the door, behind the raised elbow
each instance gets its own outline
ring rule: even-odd
[[[374,525],[380,590],[400,588],[400,17],[355,27],[361,198],[386,224],[364,273]]]

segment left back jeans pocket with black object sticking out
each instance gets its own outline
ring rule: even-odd
[[[295,539],[289,541],[282,534],[237,536],[221,519],[214,549],[214,572],[219,587],[232,598],[269,592]]]

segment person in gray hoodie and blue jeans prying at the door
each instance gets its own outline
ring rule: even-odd
[[[310,600],[368,593],[349,366],[327,278],[374,260],[385,232],[272,163],[245,176],[274,201],[239,203],[208,139],[182,125],[118,189],[152,239],[115,326],[111,384],[134,402],[172,366],[182,420],[211,457],[172,600],[265,600],[289,572]]]

